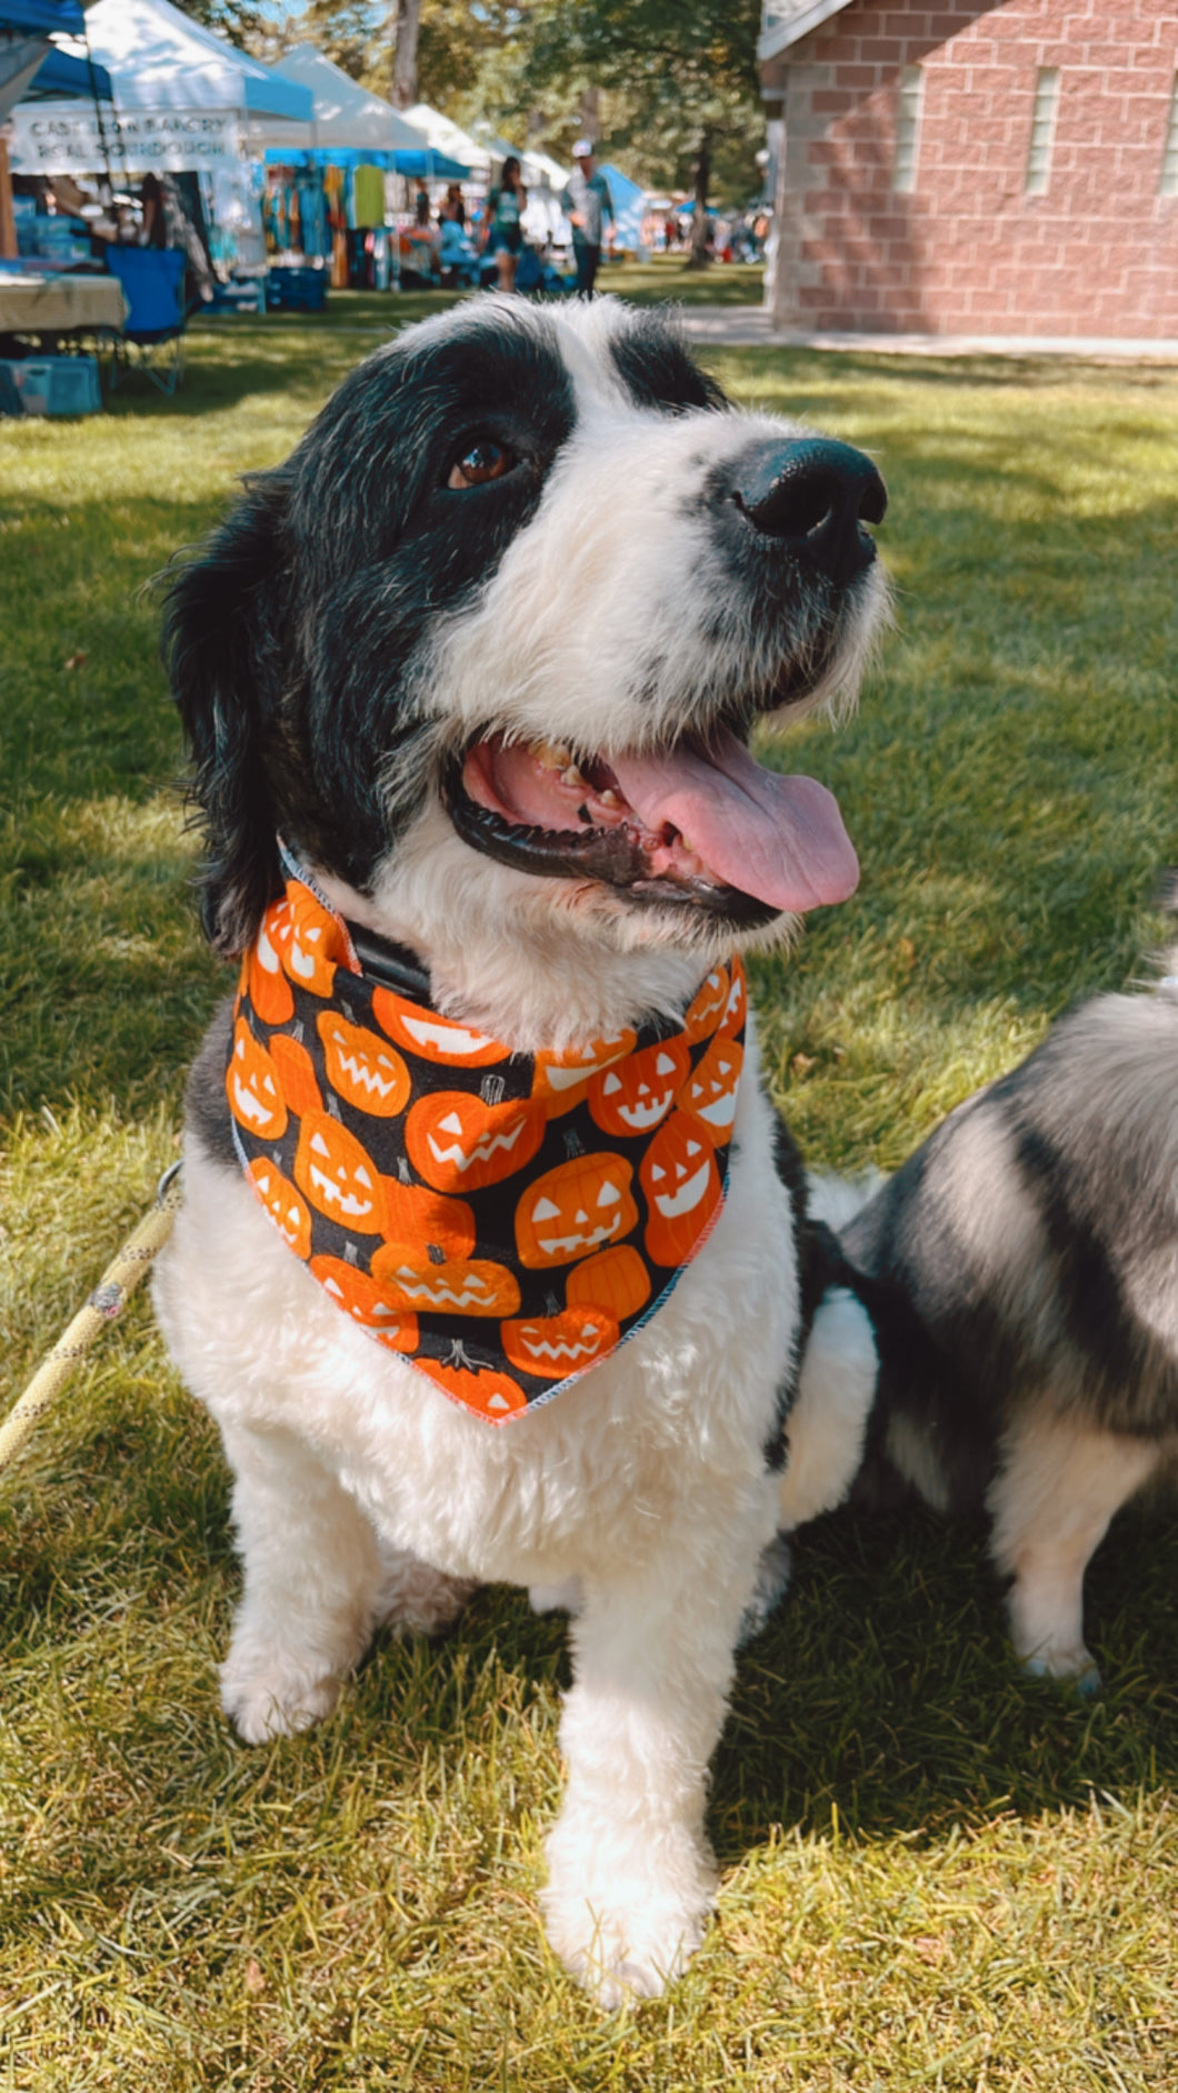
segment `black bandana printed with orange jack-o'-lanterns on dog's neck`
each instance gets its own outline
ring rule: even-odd
[[[341,1314],[506,1423],[667,1298],[728,1180],[741,961],[678,1023],[515,1055],[366,975],[287,858],[241,969],[226,1095],[270,1220]]]

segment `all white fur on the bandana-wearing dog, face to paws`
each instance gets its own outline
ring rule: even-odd
[[[699,701],[701,680],[747,691],[772,668],[749,657],[747,636],[703,640],[713,569],[690,496],[716,460],[783,425],[640,410],[603,354],[607,331],[626,324],[617,310],[546,318],[575,379],[577,431],[481,601],[450,620],[418,701],[439,735],[485,720],[490,701],[519,737],[634,747]],[[456,314],[414,339],[429,347],[435,331],[467,324]],[[536,322],[513,303],[504,324]],[[881,611],[883,582],[870,580],[818,697],[852,691]],[[642,710],[653,645],[665,663],[659,701]],[[429,961],[448,1013],[521,1051],[682,1007],[707,971],[707,940],[676,950],[655,913],[473,858],[435,804],[368,900],[318,873],[347,915]],[[711,950],[728,944],[713,929]],[[730,1193],[705,1250],[609,1363],[506,1427],[452,1406],[341,1316],[245,1180],[195,1141],[184,1187],[155,1296],[234,1469],[245,1593],[222,1668],[226,1710],[247,1739],[301,1729],[333,1706],[379,1620],[437,1626],[469,1580],[525,1584],[546,1603],[575,1597],[548,1934],[605,2003],[657,1993],[713,1896],[707,1762],[757,1559],[780,1522],[764,1446],[795,1344],[797,1275],[753,1026]],[[843,1321],[837,1304],[822,1342],[845,1340]],[[852,1352],[860,1335],[849,1331]],[[820,1406],[814,1375],[812,1392],[795,1461]],[[820,1494],[829,1467],[826,1446],[806,1469]]]

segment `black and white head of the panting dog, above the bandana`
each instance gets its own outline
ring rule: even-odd
[[[737,412],[653,314],[408,329],[172,586],[209,936],[251,940],[278,833],[431,963],[554,921],[705,959],[841,900],[833,800],[747,741],[854,697],[883,507],[866,456]]]

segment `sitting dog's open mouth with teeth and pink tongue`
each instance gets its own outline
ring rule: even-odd
[[[766,770],[728,728],[609,762],[490,735],[450,764],[444,800],[458,835],[504,864],[743,923],[858,885],[826,787]]]

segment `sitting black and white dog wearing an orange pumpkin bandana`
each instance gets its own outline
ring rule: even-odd
[[[322,988],[316,954],[280,919],[280,837],[324,910],[314,936],[326,923],[354,954],[349,992],[387,977],[412,1000],[418,969],[423,1051],[458,1034],[475,1059],[494,1057],[498,1040],[565,1076],[592,1042],[682,1026],[734,952],[789,940],[806,908],[854,890],[831,795],[762,768],[747,741],[760,720],[854,699],[885,622],[864,527],[883,507],[868,458],[737,412],[655,316],[490,297],[406,331],[345,379],[285,465],[247,483],[172,588],[213,944],[253,952],[257,1000],[278,1013],[299,982]],[[322,1023],[341,1086],[362,1074],[372,1111],[393,1111],[400,1019],[381,1042],[352,1005],[333,1011]],[[559,1400],[488,1430],[437,1386],[479,1381],[469,1350],[454,1346],[450,1367],[433,1358],[429,1379],[400,1356],[402,1325],[377,1329],[402,1314],[406,1287],[418,1298],[429,1283],[400,1239],[393,1262],[372,1254],[352,1316],[356,1245],[312,1258],[318,1277],[291,1254],[312,1208],[314,1226],[362,1214],[372,1172],[356,1166],[347,1195],[343,1164],[331,1183],[308,1028],[282,1032],[278,1015],[268,1059],[245,1034],[230,1049],[230,1021],[222,1013],[192,1074],[184,1210],[155,1289],[234,1469],[245,1595],[224,1706],[245,1739],[297,1731],[331,1710],[379,1622],[435,1628],[473,1580],[575,1589],[548,1932],[603,2001],[655,1993],[713,1896],[707,1762],[757,1559],[783,1520],[780,1430],[806,1321],[803,1180],[787,1141],[780,1174],[751,1023],[726,1201],[674,1293]],[[280,1053],[289,1111],[303,1116],[301,1195],[278,1162],[268,1176],[266,1155],[253,1185],[243,1170]],[[483,1103],[508,1109],[502,1080]],[[661,1109],[634,1107],[642,1124]],[[439,1124],[448,1168],[498,1170],[500,1136],[462,1147],[460,1099]],[[408,1153],[425,1155],[412,1126]],[[699,1141],[686,1153],[699,1160]],[[703,1153],[665,1197],[655,1168],[649,1214],[682,1220],[707,1168]],[[280,1185],[270,1214],[257,1172]],[[383,1187],[398,1214],[427,1197],[408,1166]],[[577,1212],[531,1245],[561,1287],[615,1224],[617,1185],[607,1195],[596,1229]],[[439,1203],[460,1237],[462,1201]],[[554,1203],[536,1201],[542,1212]],[[425,1250],[450,1275],[450,1302],[469,1304],[458,1254]],[[630,1254],[613,1275],[640,1293],[638,1266]],[[485,1260],[465,1273],[473,1293]],[[508,1296],[515,1277],[500,1275]],[[601,1319],[580,1312],[550,1304],[565,1333],[552,1348],[569,1348],[569,1331],[596,1342]],[[502,1329],[519,1342],[515,1323]],[[814,1335],[829,1379],[843,1354],[856,1388],[870,1375],[866,1319],[847,1298]],[[513,1400],[511,1377],[485,1386]],[[795,1490],[791,1517],[808,1509]]]

